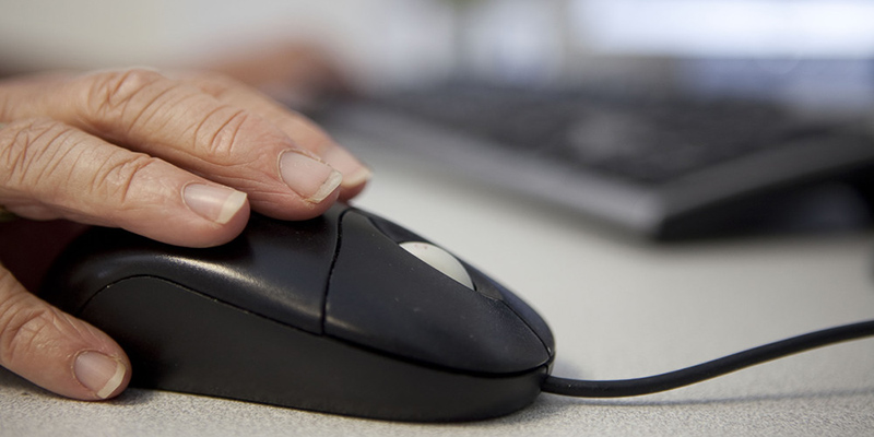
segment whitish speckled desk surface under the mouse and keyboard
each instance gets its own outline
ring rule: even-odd
[[[871,319],[874,234],[652,245],[439,169],[362,152],[356,205],[499,279],[550,322],[554,374],[648,376]],[[58,398],[0,369],[0,436],[874,435],[874,340],[647,397],[542,394],[507,417],[402,424],[141,389]]]

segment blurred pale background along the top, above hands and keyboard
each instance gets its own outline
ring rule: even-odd
[[[874,95],[865,0],[5,0],[0,10],[7,73],[208,64],[305,43],[366,88],[618,74],[841,105]]]

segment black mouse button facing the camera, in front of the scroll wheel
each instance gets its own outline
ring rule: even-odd
[[[402,358],[461,371],[512,374],[552,359],[504,302],[430,268],[362,214],[341,220],[324,333]]]

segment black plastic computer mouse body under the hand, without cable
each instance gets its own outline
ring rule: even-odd
[[[209,249],[93,228],[42,295],[116,339],[134,387],[400,421],[531,403],[554,357],[546,323],[476,269],[461,262],[471,290],[410,241],[428,243],[347,205],[306,222],[253,215]]]

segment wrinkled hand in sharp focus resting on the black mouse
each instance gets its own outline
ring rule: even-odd
[[[8,211],[181,246],[231,240],[250,206],[276,218],[314,217],[357,194],[370,175],[312,122],[210,74],[9,80],[0,82],[0,123]],[[0,260],[22,249],[0,245]],[[28,293],[13,272],[0,265],[0,365],[70,398],[121,392],[130,363],[118,344]]]

